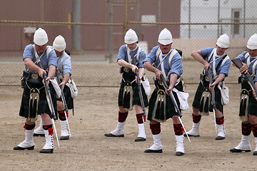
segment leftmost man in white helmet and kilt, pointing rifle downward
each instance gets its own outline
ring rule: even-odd
[[[43,28],[38,28],[34,34],[34,44],[29,44],[24,49],[23,60],[26,66],[24,71],[25,87],[21,99],[19,115],[26,118],[24,125],[26,138],[14,150],[34,150],[34,128],[37,115],[41,115],[44,125],[46,144],[40,150],[41,153],[54,152],[53,124],[49,104],[46,100],[46,92],[43,83],[43,75],[46,74],[46,81],[54,77],[56,73],[56,53],[51,46],[46,46],[48,36]],[[54,104],[54,113],[57,113],[56,93],[49,82],[51,99]]]

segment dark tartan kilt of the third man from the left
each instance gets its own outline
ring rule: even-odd
[[[129,71],[129,73],[124,73],[123,78],[125,81],[129,81],[129,82],[132,82],[133,80],[136,79],[135,73],[133,73],[131,70]],[[119,99],[118,99],[119,106],[124,105],[123,93],[124,93],[125,86],[126,86],[126,83],[123,80],[121,80],[121,86],[119,88]],[[136,81],[134,81],[131,86],[132,86],[132,90],[133,90],[132,105],[141,105],[141,101],[140,101],[139,93],[138,93],[138,84],[136,83]],[[148,98],[147,98],[145,90],[143,89],[142,84],[141,84],[141,90],[142,90],[142,94],[143,94],[143,103],[144,103],[145,107],[148,107]]]

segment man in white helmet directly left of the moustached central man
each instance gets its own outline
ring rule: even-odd
[[[136,119],[138,123],[138,136],[135,139],[138,141],[146,140],[146,131],[144,127],[145,117],[143,115],[143,109],[141,107],[141,101],[138,95],[138,83],[136,82],[136,70],[138,70],[138,76],[140,81],[143,80],[144,67],[143,59],[146,58],[146,53],[137,46],[138,36],[132,29],[126,32],[124,37],[126,44],[119,48],[117,62],[121,66],[121,86],[119,88],[119,118],[116,129],[111,133],[106,133],[106,137],[124,137],[124,125],[126,118],[129,114],[129,110],[133,107],[136,110]],[[146,92],[141,84],[141,90],[143,94],[143,102],[145,107],[148,106],[148,99]]]

